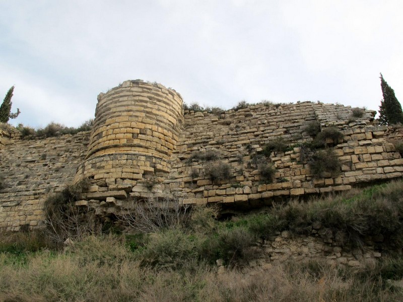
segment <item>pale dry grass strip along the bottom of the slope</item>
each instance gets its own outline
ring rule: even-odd
[[[44,251],[23,265],[11,264],[12,256],[0,254],[0,301],[364,302],[400,301],[403,294],[380,275],[341,272],[320,262],[217,274],[216,267],[189,260],[177,270],[156,270],[129,256],[116,238],[92,238],[83,245],[91,248],[75,247],[60,254]],[[108,261],[99,257],[83,261],[89,254],[104,255],[104,249]]]

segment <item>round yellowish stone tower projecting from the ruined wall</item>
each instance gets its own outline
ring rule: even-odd
[[[183,122],[182,103],[174,90],[141,80],[98,95],[88,154],[75,179],[92,180],[89,198],[119,190],[145,196],[165,179]]]

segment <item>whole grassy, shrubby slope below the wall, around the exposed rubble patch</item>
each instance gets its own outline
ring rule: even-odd
[[[88,235],[61,249],[46,232],[3,233],[0,301],[401,301],[402,213],[399,181],[231,221],[198,208],[152,234]],[[341,245],[381,237],[389,256],[359,271],[317,261],[242,266],[257,239],[306,234],[312,223]]]

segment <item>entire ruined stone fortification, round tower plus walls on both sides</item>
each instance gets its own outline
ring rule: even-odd
[[[0,173],[7,182],[0,190],[0,226],[40,225],[48,194],[83,178],[91,186],[77,205],[88,204],[103,215],[135,198],[180,195],[187,203],[258,207],[401,177],[403,159],[385,140],[401,135],[375,125],[374,113],[367,110],[352,120],[351,107],[319,102],[183,113],[174,90],[125,81],[98,96],[90,137],[79,133],[26,141],[16,129],[0,130]],[[339,141],[327,141],[342,163],[337,176],[315,178],[300,158],[300,144],[312,140],[306,131],[312,121],[321,130],[334,126],[344,133]],[[271,182],[261,177],[252,157],[279,137],[292,148],[265,160],[276,169]],[[209,161],[194,152],[215,156]],[[229,173],[212,179],[208,171],[225,170],[219,163],[227,164]]]

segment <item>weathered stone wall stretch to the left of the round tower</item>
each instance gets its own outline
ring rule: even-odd
[[[72,183],[87,155],[89,134],[17,139],[0,150],[0,228],[17,231],[43,222],[45,199]]]

